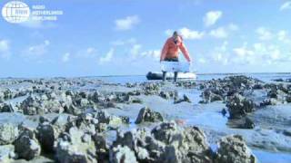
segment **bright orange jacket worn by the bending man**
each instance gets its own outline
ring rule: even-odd
[[[179,49],[184,54],[186,60],[188,62],[191,61],[190,55],[186,49],[185,44],[183,43],[183,39],[181,36],[178,36],[177,43],[174,42],[174,38],[170,37],[166,40],[166,43],[163,47],[162,53],[161,53],[161,61],[165,60],[165,58],[177,58],[178,57],[178,51]]]

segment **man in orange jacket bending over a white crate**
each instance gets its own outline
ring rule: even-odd
[[[186,49],[185,44],[183,43],[182,37],[175,31],[173,36],[166,40],[166,43],[163,47],[160,62],[178,62],[179,49],[184,54],[187,62],[191,62],[190,55]],[[176,82],[178,72],[175,72],[174,81]],[[166,81],[166,72],[163,72],[163,81]]]

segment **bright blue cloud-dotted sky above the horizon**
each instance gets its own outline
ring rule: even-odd
[[[0,16],[0,77],[158,72],[160,51],[175,30],[196,72],[291,72],[291,1],[22,2],[63,14],[22,24]]]

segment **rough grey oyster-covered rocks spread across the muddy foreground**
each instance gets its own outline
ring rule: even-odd
[[[243,136],[221,136],[213,149],[203,129],[149,108],[146,98],[192,108],[179,90],[199,90],[201,105],[226,103],[221,114],[234,129],[254,129],[256,110],[291,102],[290,84],[246,76],[176,84],[6,79],[0,85],[0,162],[257,162]],[[134,120],[118,114],[128,106],[139,107]]]

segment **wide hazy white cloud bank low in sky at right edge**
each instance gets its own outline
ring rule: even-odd
[[[228,27],[229,30],[229,27]],[[264,30],[263,30],[264,31]],[[276,34],[276,35],[275,35]],[[291,62],[290,44],[285,43],[289,34],[285,30],[272,34],[275,42],[243,43],[240,46],[227,42],[209,48],[204,56],[197,57],[198,63],[205,65],[227,65],[240,70],[251,70],[251,66],[279,66]],[[233,43],[233,42],[231,42]],[[236,43],[234,43],[236,44]],[[200,58],[203,58],[200,60]],[[242,67],[243,66],[243,67]],[[242,68],[242,69],[241,69]],[[254,69],[257,71],[257,69]]]

